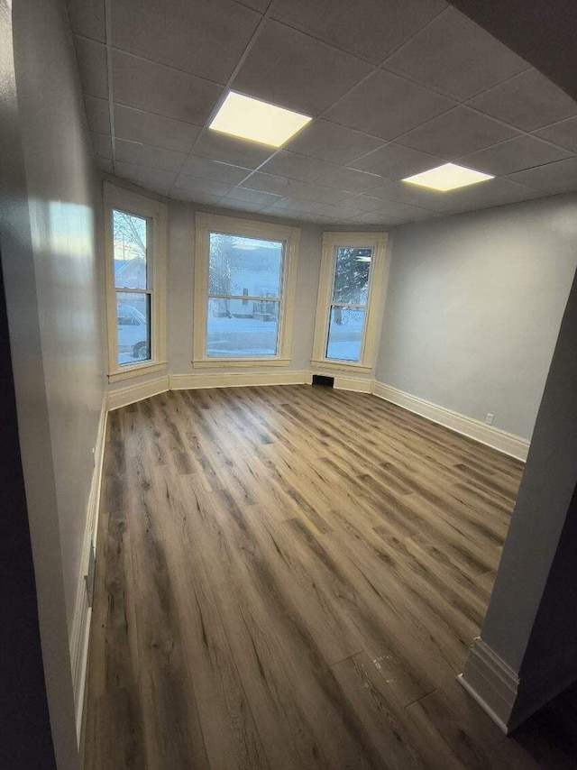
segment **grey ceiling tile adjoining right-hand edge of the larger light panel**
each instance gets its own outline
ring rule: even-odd
[[[382,144],[382,139],[317,118],[299,131],[285,147],[301,155],[344,164],[365,152],[376,150]]]

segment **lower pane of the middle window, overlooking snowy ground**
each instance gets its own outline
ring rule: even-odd
[[[206,355],[276,355],[279,302],[252,299],[209,299]]]

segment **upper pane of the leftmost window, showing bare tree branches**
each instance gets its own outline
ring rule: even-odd
[[[146,219],[114,209],[112,221],[114,286],[118,289],[147,289]]]

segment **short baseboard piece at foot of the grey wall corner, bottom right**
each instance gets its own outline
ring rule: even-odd
[[[463,674],[459,674],[457,680],[508,735],[515,727],[511,724],[511,715],[517,700],[519,678],[481,637],[474,639]]]

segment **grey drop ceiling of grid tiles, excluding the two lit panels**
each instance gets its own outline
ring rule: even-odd
[[[103,170],[162,195],[398,225],[577,189],[577,103],[444,0],[69,0]],[[275,151],[227,89],[312,115]],[[400,182],[446,161],[496,179]]]

